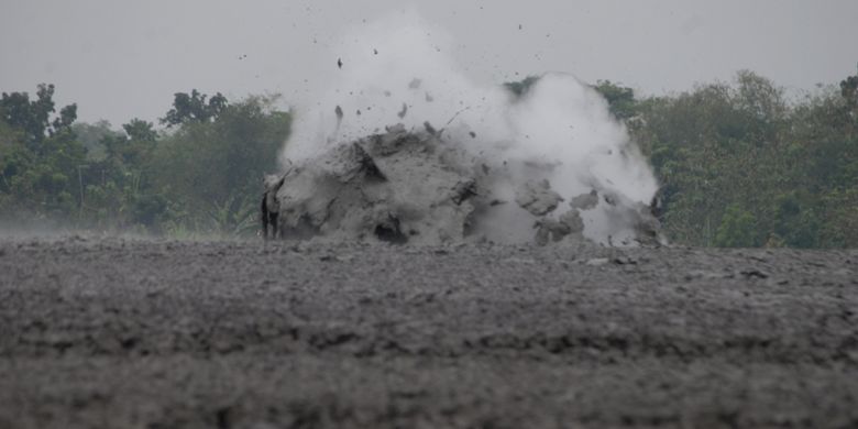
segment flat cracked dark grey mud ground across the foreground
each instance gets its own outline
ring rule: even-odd
[[[858,427],[858,252],[0,240],[0,428]]]

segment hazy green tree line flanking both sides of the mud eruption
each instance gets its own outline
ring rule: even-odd
[[[521,95],[535,78],[506,84]],[[638,98],[594,85],[662,185],[674,243],[858,246],[858,75],[800,100],[751,72],[732,82]],[[114,130],[57,110],[51,85],[2,95],[0,220],[170,237],[255,232],[263,173],[292,116],[270,97],[174,95],[166,130]]]

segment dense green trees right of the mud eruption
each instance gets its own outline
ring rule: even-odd
[[[858,246],[858,76],[790,101],[769,79],[635,99],[594,88],[625,119],[662,186],[673,242]],[[619,95],[619,96],[618,96]]]

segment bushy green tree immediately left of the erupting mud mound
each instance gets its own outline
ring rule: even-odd
[[[249,97],[158,143],[151,166],[156,186],[176,202],[170,228],[234,234],[255,227],[261,177],[277,169],[292,123],[275,101]]]

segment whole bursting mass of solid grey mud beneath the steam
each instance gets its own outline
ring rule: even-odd
[[[602,204],[610,220],[601,223],[632,231],[617,241],[607,235],[606,244],[664,242],[646,205],[595,188],[565,204],[544,178],[554,166],[483,158],[442,134],[428,123],[418,131],[388,127],[267,177],[265,198],[278,210],[282,235],[420,245],[578,245],[586,235],[582,215]],[[510,195],[501,195],[504,189]],[[595,200],[582,205],[582,198]]]

